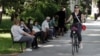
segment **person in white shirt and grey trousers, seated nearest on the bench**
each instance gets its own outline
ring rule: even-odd
[[[26,42],[26,51],[32,51],[32,49],[30,47],[33,42],[34,36],[24,32],[20,28],[19,20],[14,21],[14,25],[11,27],[11,33],[14,37],[14,41]]]

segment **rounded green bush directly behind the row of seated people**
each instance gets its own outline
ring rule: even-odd
[[[27,20],[27,18],[31,17],[33,20],[38,20],[41,23],[46,16],[53,16],[58,11],[58,8],[56,4],[38,2],[36,7],[25,7],[20,18]]]

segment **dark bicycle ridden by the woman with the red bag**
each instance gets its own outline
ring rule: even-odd
[[[77,28],[72,27],[72,55],[75,55],[75,52],[79,52],[79,42],[77,36]]]

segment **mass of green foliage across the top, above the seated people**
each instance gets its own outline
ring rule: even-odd
[[[20,18],[29,17],[42,22],[46,16],[53,16],[62,5],[68,6],[68,0],[0,0],[5,13],[11,15],[14,12]]]

